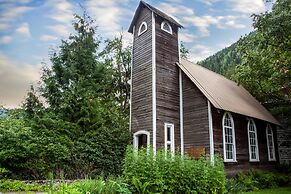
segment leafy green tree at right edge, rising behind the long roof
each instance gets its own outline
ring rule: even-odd
[[[255,32],[239,41],[242,62],[231,76],[283,119],[291,112],[290,6],[278,0],[271,12],[253,15]]]

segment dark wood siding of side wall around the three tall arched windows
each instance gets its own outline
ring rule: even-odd
[[[213,134],[214,134],[214,151],[215,154],[223,156],[223,134],[222,134],[222,118],[224,110],[216,109],[212,106],[213,118]],[[234,121],[235,140],[236,140],[236,159],[237,162],[225,162],[225,168],[229,176],[235,175],[238,171],[248,171],[251,168],[259,168],[265,170],[274,169],[278,161],[278,146],[276,129],[272,126],[275,142],[276,161],[268,161],[266,126],[267,123],[258,119],[253,119],[257,128],[259,161],[249,161],[249,144],[248,144],[248,118],[244,115],[231,113]]]

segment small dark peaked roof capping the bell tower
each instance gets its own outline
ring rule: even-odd
[[[132,22],[129,26],[128,32],[132,33],[133,32],[133,26],[136,23],[136,20],[138,19],[139,13],[140,13],[140,9],[142,7],[147,7],[149,10],[151,10],[152,12],[154,12],[155,14],[161,16],[162,18],[165,18],[168,22],[173,23],[175,25],[177,25],[178,27],[182,28],[183,26],[181,24],[179,24],[176,20],[174,20],[172,17],[168,16],[167,14],[165,14],[164,12],[158,10],[157,8],[147,4],[144,1],[140,1],[139,5],[134,13],[134,17],[132,19]]]

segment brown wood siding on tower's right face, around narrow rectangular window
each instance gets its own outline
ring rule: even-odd
[[[178,28],[172,26],[173,34],[161,30],[161,17],[156,21],[156,99],[157,99],[157,147],[163,147],[164,123],[174,124],[175,148],[180,147],[179,121],[179,61]],[[179,149],[180,150],[180,149]]]

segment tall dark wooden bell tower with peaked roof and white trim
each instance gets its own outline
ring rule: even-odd
[[[182,26],[140,1],[130,24],[133,34],[130,128],[135,147],[181,147],[179,41]],[[182,151],[182,150],[181,150]]]

